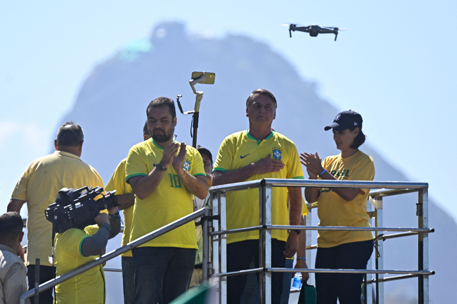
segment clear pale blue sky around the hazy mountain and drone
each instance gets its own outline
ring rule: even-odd
[[[457,171],[455,1],[2,1],[0,207],[25,167],[48,153],[85,77],[159,21],[194,33],[244,34],[270,44],[454,218]],[[282,23],[339,26],[316,38]],[[217,72],[217,71],[216,71]],[[306,130],[304,130],[306,131]],[[84,159],[84,152],[82,155]]]

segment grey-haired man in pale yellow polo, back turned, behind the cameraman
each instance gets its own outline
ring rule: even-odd
[[[44,216],[62,188],[104,187],[97,171],[80,159],[84,143],[79,124],[66,122],[57,131],[56,151],[27,167],[14,188],[7,211],[20,213],[27,202],[27,278],[29,289],[35,287],[35,259],[40,258],[40,282],[54,278],[48,257],[52,257],[52,224]],[[40,293],[40,304],[52,304],[52,289]],[[30,299],[33,304],[34,299]]]

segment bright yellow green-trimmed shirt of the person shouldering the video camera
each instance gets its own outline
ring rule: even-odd
[[[97,225],[87,226],[83,230],[71,228],[55,237],[55,263],[57,275],[89,263],[99,256],[85,257],[81,245],[86,237],[93,236],[98,231]],[[56,285],[57,304],[104,304],[105,273],[100,264],[90,268],[76,277]]]

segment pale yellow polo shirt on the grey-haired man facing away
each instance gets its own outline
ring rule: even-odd
[[[62,188],[104,187],[98,172],[78,156],[55,151],[40,157],[27,167],[14,188],[11,198],[27,201],[27,265],[52,266],[52,223],[44,211],[56,200]]]

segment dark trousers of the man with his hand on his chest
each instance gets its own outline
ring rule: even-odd
[[[284,268],[286,257],[282,253],[286,250],[286,242],[271,240],[271,267]],[[227,244],[227,271],[249,269],[254,258],[255,268],[259,268],[259,240],[246,240]],[[247,275],[227,277],[227,304],[239,304],[241,294],[246,285]],[[258,278],[258,275],[257,275]],[[282,280],[284,273],[271,274],[271,303],[280,304],[282,294]]]

